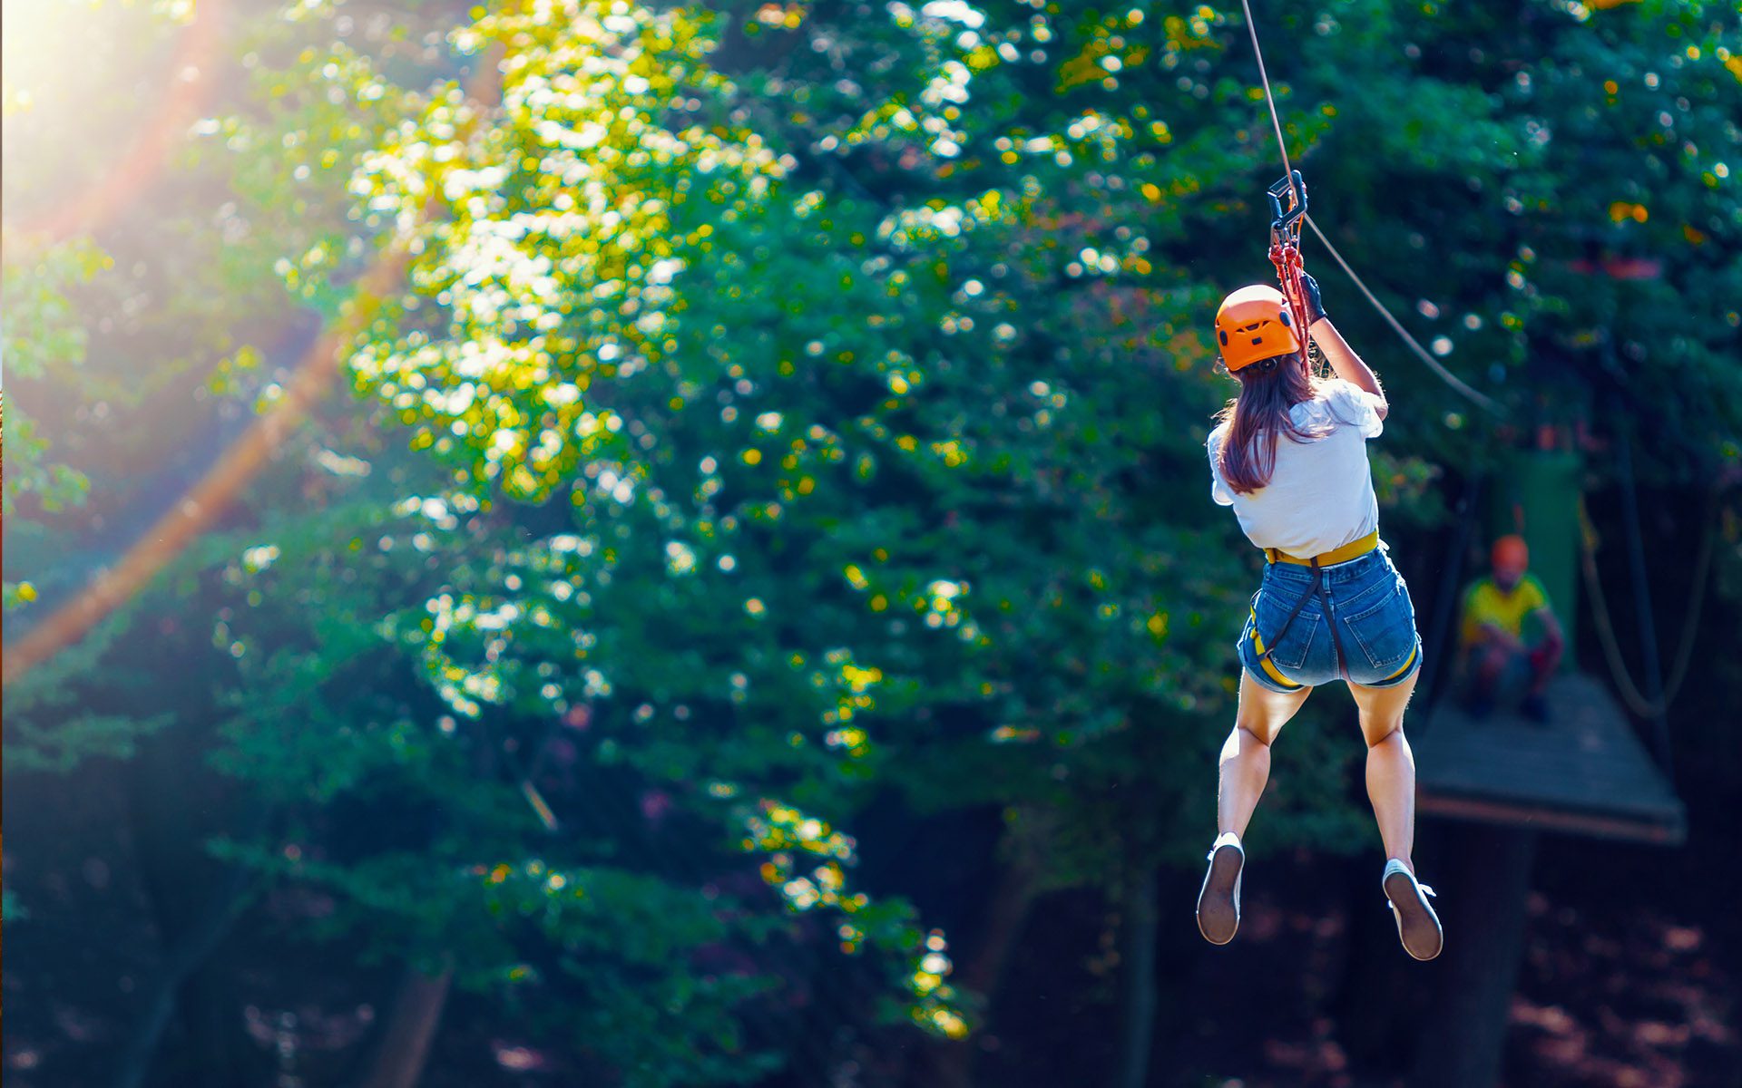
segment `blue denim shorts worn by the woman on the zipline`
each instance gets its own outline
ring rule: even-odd
[[[1364,688],[1394,688],[1421,668],[1409,587],[1383,543],[1359,559],[1320,568],[1319,578],[1313,592],[1312,568],[1265,566],[1240,632],[1240,665],[1259,686],[1293,693],[1347,679]],[[1300,613],[1291,621],[1296,604]]]

